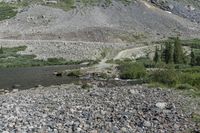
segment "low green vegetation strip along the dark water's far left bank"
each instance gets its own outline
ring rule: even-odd
[[[48,65],[72,65],[81,64],[85,61],[66,61],[63,58],[49,58],[47,60],[35,59],[35,55],[20,55],[19,51],[24,51],[26,46],[14,48],[0,48],[0,68],[10,67],[32,67],[32,66],[48,66]],[[91,64],[95,61],[88,61]]]

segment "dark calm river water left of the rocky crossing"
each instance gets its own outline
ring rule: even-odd
[[[74,68],[80,68],[80,65],[3,68],[0,69],[0,89],[13,89],[14,87],[28,89],[37,85],[50,86],[72,83],[78,79],[67,76],[57,77],[53,73]]]

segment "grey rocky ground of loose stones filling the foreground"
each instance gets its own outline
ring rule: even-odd
[[[198,132],[187,104],[177,92],[144,86],[38,87],[0,96],[0,132]]]

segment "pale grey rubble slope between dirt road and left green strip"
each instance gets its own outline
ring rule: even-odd
[[[22,55],[36,55],[37,59],[64,58],[66,60],[96,60],[105,49],[122,49],[128,44],[101,42],[73,42],[60,40],[0,40],[2,47],[27,46]]]

